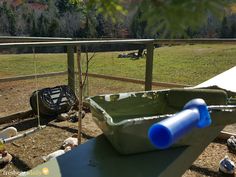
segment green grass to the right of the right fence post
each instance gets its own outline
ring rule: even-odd
[[[236,46],[187,45],[155,52],[154,79],[197,84],[236,65]]]

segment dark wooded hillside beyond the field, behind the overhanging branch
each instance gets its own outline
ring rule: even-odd
[[[139,1],[139,0],[138,0]],[[137,0],[125,1],[125,7]],[[236,5],[232,6],[236,12]],[[83,6],[69,0],[0,0],[0,35],[49,36],[76,38],[156,38],[145,30],[142,11],[129,10],[112,22]],[[227,13],[226,13],[227,14]],[[186,30],[185,37],[236,37],[236,16],[227,14],[222,21],[209,15],[207,24],[199,29]]]

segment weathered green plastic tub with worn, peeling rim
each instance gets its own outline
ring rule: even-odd
[[[164,119],[158,119],[158,115],[176,113],[194,98],[202,98],[208,105],[227,104],[226,92],[217,89],[109,94],[91,97],[89,102],[94,121],[113,147],[121,154],[133,154],[155,149],[147,132],[152,124]],[[189,139],[183,138],[174,146],[188,143]]]

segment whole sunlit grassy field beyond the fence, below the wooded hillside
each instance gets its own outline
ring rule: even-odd
[[[145,59],[117,58],[121,52],[96,53],[90,72],[144,79]],[[66,54],[0,55],[0,78],[66,70]],[[153,80],[198,84],[236,65],[235,45],[184,45],[155,49]]]

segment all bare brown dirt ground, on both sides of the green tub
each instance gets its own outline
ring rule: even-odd
[[[52,82],[50,81],[42,80],[39,88],[59,85],[63,82],[64,78],[54,80],[53,84],[51,84]],[[110,93],[116,92],[116,90],[112,89],[113,88],[109,90]],[[139,88],[134,87],[133,89]],[[28,100],[33,90],[35,90],[35,84],[31,81],[0,84],[0,117],[29,109]],[[106,93],[105,91],[105,88],[97,87],[93,94]],[[14,143],[6,145],[7,151],[13,156],[13,160],[10,164],[2,167],[0,176],[16,176],[19,172],[30,170],[43,163],[42,156],[58,150],[66,138],[77,133],[77,123],[41,119],[41,124],[47,124],[47,127],[32,135],[14,141]],[[35,118],[15,120],[14,122],[0,125],[0,129],[8,126],[14,126],[19,132],[24,132],[32,127],[36,127],[37,120]],[[234,127],[232,126],[230,130],[234,131]],[[101,133],[101,130],[94,124],[91,113],[87,113],[82,124],[82,142],[84,143],[88,139],[96,137]],[[225,155],[228,155],[236,162],[236,155],[228,151],[226,142],[215,140],[205,149],[183,176],[220,177],[222,174],[218,172],[219,161]]]

